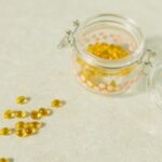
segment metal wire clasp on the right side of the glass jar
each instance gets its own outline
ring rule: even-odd
[[[157,56],[157,53],[152,50],[147,50],[145,56],[140,59],[141,71],[145,76],[148,76],[149,69],[153,66],[153,59]]]

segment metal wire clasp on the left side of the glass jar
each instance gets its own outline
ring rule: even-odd
[[[63,49],[63,48],[65,48],[67,45],[72,46],[73,41],[75,41],[75,33],[76,33],[79,25],[80,25],[80,23],[79,23],[78,19],[73,22],[73,27],[75,28],[72,30],[67,30],[66,31],[66,35],[63,37],[62,41],[57,45],[58,49]]]

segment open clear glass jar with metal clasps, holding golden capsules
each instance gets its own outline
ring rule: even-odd
[[[73,49],[76,76],[87,90],[100,94],[124,92],[136,83],[152,52],[144,52],[145,38],[130,18],[100,14],[67,31],[59,46]]]

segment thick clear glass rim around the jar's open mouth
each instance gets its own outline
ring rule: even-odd
[[[109,19],[105,19],[105,18],[109,18]],[[127,29],[130,33],[131,31],[129,30],[129,28],[132,28],[136,32],[136,37],[137,36],[139,37],[138,38],[139,44],[137,49],[129,57],[125,57],[123,59],[108,60],[108,59],[99,58],[87,52],[84,52],[81,49],[81,44],[79,43],[79,37],[81,31],[84,30],[85,27],[92,25],[93,23],[99,23],[102,19],[105,19],[106,22],[113,21],[113,23],[120,23],[125,27],[125,29]],[[76,31],[73,45],[77,53],[89,64],[99,66],[102,68],[118,69],[118,68],[124,68],[133,64],[136,64],[143,58],[145,38],[140,28],[131,18],[118,14],[106,13],[106,14],[98,14],[96,16],[90,17],[84,23],[82,23]]]

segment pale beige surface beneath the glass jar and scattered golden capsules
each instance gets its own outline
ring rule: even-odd
[[[67,105],[44,119],[37,136],[0,137],[0,157],[14,162],[162,162],[162,112],[144,87],[105,97],[81,87],[71,52],[56,44],[71,21],[105,12],[135,19],[147,46],[162,52],[161,0],[0,0],[0,114],[59,97]],[[16,106],[17,95],[31,102]],[[0,116],[0,126],[13,126]]]

